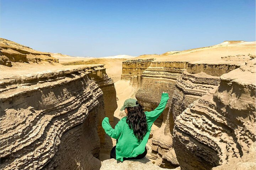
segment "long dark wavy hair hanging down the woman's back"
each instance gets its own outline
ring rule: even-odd
[[[142,105],[135,107],[127,107],[127,119],[126,122],[129,128],[133,130],[134,135],[138,138],[138,141],[142,141],[146,133],[148,132],[148,124],[146,122],[146,115],[143,111]]]

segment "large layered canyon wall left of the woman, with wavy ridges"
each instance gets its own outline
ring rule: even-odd
[[[100,168],[95,157],[104,142],[103,93],[114,90],[103,66],[12,76],[0,83],[1,169]]]

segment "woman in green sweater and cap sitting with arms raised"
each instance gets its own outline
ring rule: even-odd
[[[169,97],[163,92],[159,106],[151,112],[144,112],[136,99],[129,98],[124,102],[121,111],[127,114],[113,129],[106,117],[102,121],[102,127],[106,134],[117,140],[112,148],[110,157],[116,160],[141,159],[145,157],[146,143],[148,142],[151,126],[164,111]]]

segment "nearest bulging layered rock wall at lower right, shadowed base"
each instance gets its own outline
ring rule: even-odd
[[[174,148],[182,169],[211,169],[255,149],[254,74],[252,60],[222,75],[217,90],[177,117]]]

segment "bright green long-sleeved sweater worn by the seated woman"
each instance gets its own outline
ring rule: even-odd
[[[133,130],[126,123],[127,117],[122,118],[113,129],[109,123],[109,119],[105,117],[102,121],[102,127],[106,134],[112,138],[118,139],[116,144],[116,159],[123,161],[123,158],[137,157],[145,151],[148,142],[151,127],[154,121],[164,111],[169,97],[167,93],[162,93],[159,106],[151,112],[145,112],[148,124],[148,132],[142,141],[138,141],[134,136]]]

